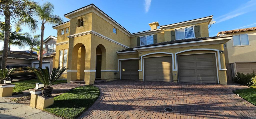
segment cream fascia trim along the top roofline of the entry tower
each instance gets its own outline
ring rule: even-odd
[[[86,10],[86,9],[88,9],[88,8],[91,8],[91,7],[93,7],[94,9],[96,9],[98,12],[100,12],[102,15],[104,15],[104,16],[105,16],[106,18],[108,18],[110,21],[114,22],[114,23],[115,23],[116,25],[118,25],[121,29],[123,29],[124,31],[126,31],[129,35],[132,35],[129,31],[127,31],[126,29],[124,29],[120,24],[118,24],[116,21],[114,21],[113,19],[111,19],[109,16],[107,16],[105,13],[103,13],[101,10],[99,10],[97,7],[95,7],[95,6],[93,6],[93,5],[90,5],[90,6],[88,6],[88,7],[79,9],[79,10],[74,11],[74,12],[71,12],[71,13],[65,15],[64,17],[67,18],[67,17],[68,17],[69,15],[71,15],[71,14],[76,14],[76,13],[82,11],[82,10]]]

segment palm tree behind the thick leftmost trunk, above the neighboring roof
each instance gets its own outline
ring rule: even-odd
[[[21,32],[22,29],[20,29],[18,32]],[[23,34],[18,33],[17,31],[12,32],[11,30],[9,31],[9,42],[8,42],[8,55],[10,55],[10,49],[11,45],[13,46],[18,46],[20,49],[25,48],[24,44],[22,43],[26,37],[23,36]],[[4,31],[0,31],[0,41],[4,41]]]

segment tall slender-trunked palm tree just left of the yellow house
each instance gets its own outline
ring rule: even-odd
[[[39,56],[39,67],[42,67],[42,57],[43,57],[43,45],[44,45],[44,30],[45,24],[60,24],[63,23],[63,19],[58,15],[53,15],[54,5],[50,2],[44,3],[42,6],[35,6],[35,19],[30,16],[24,16],[20,21],[17,22],[16,28],[28,26],[32,32],[38,29],[38,24],[41,24],[41,40],[40,40],[40,56]]]

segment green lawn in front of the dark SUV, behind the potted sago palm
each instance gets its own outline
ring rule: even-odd
[[[39,83],[39,82],[40,81],[38,79],[13,82],[12,84],[15,84],[15,87],[13,88],[13,95],[22,94],[23,90],[35,88],[36,86],[35,83]],[[67,81],[57,80],[56,82],[54,82],[54,84],[60,84],[60,83],[67,83]]]

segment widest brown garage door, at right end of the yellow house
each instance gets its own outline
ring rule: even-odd
[[[217,83],[215,54],[177,56],[179,82]]]

